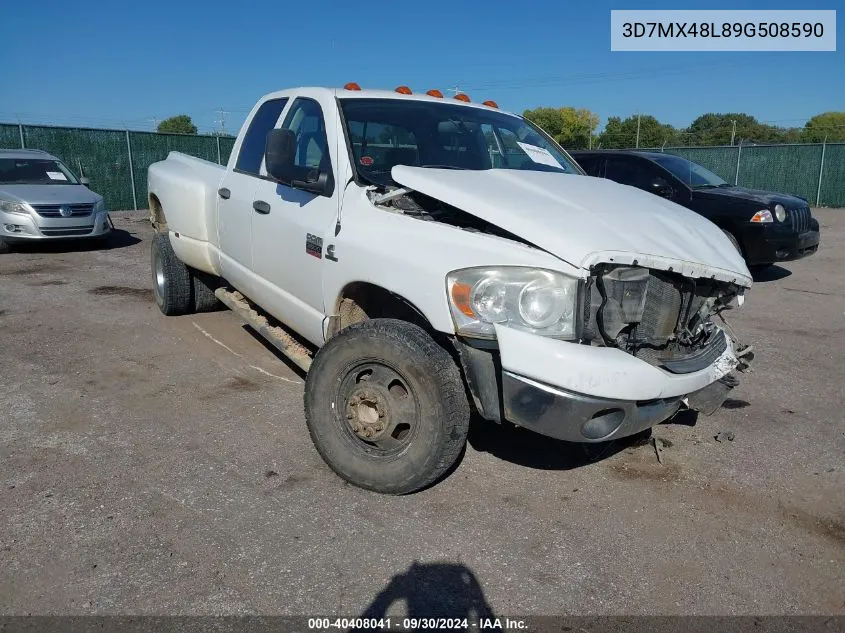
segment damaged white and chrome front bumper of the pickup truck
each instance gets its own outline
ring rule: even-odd
[[[496,334],[498,350],[458,345],[479,413],[570,442],[633,435],[672,417],[682,403],[710,414],[737,382],[729,374],[740,361],[729,338],[708,367],[672,374],[615,348],[500,326]]]

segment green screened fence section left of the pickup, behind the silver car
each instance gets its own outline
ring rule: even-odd
[[[234,144],[231,136],[0,123],[0,148],[43,149],[59,157],[115,210],[147,207],[147,168],[168,152],[225,165]]]

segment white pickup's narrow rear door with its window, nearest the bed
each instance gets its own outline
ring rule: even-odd
[[[288,99],[262,103],[247,128],[237,160],[227,169],[217,190],[217,228],[223,276],[236,286],[249,288],[252,260],[252,203],[264,158],[267,132],[272,130]],[[231,163],[230,163],[231,164]]]

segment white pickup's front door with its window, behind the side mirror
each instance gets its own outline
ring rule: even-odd
[[[281,128],[296,137],[298,166],[333,173],[326,119],[316,100],[294,100]],[[269,179],[255,189],[253,268],[266,284],[263,307],[312,342],[323,340],[322,274],[326,258],[332,257],[339,189],[335,184],[324,196]]]

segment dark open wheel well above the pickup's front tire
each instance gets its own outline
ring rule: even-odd
[[[399,319],[419,325],[428,332],[434,331],[413,303],[395,292],[363,281],[351,283],[343,289],[334,313],[330,336],[367,319]]]

